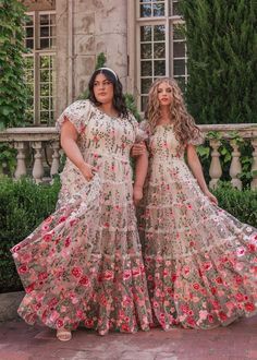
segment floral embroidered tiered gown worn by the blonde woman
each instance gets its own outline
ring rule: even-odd
[[[155,322],[207,329],[255,314],[257,229],[204,195],[172,125],[149,152],[138,223]]]

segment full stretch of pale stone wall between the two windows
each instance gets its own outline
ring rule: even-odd
[[[126,0],[57,1],[57,113],[86,89],[100,52],[126,88]]]

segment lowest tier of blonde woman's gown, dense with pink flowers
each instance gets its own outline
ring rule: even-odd
[[[151,307],[163,329],[215,328],[257,313],[255,252],[223,250],[176,260],[145,255]]]

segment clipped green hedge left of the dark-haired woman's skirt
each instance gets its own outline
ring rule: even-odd
[[[60,181],[52,185],[0,178],[0,292],[22,289],[10,249],[54,211]]]

